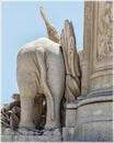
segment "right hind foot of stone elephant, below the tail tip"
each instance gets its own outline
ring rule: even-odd
[[[45,124],[45,129],[56,129],[56,128],[60,128],[60,123],[57,121],[48,121]]]

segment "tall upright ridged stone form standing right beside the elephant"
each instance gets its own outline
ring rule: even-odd
[[[64,53],[66,65],[66,89],[65,97],[67,101],[73,101],[80,96],[81,90],[81,72],[79,55],[76,47],[76,37],[72,23],[65,21],[65,26],[60,35],[60,44]]]

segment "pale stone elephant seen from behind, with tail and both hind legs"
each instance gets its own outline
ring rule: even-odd
[[[18,54],[16,79],[21,98],[20,127],[34,128],[34,99],[42,95],[47,102],[45,128],[59,128],[59,108],[65,90],[60,45],[45,37],[24,45]]]

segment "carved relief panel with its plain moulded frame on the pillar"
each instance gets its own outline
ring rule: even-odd
[[[113,56],[113,4],[94,2],[93,12],[93,72],[112,68]]]

